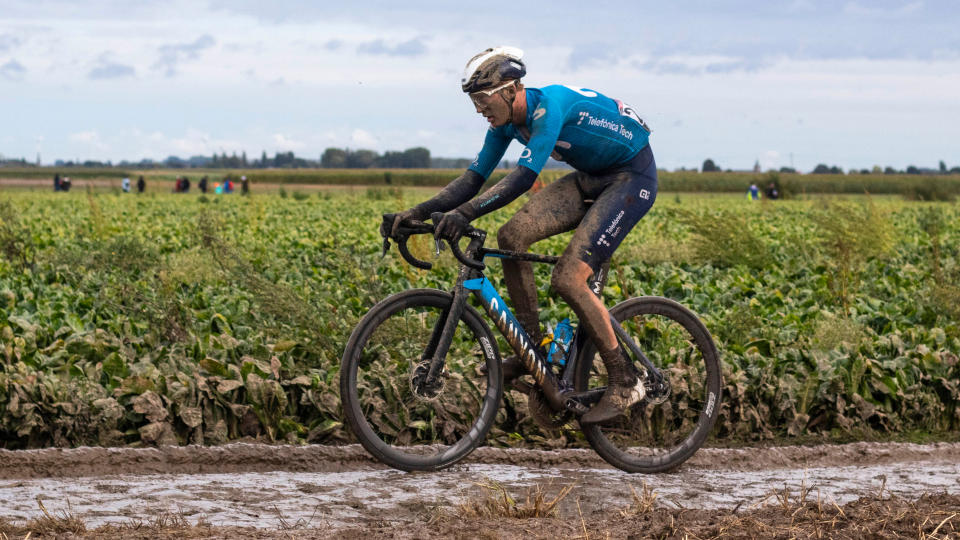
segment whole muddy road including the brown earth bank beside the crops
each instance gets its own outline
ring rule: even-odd
[[[481,448],[430,474],[384,468],[358,446],[0,450],[0,516],[36,518],[39,499],[89,528],[173,513],[215,527],[331,533],[423,524],[500,489],[522,498],[569,485],[560,516],[627,508],[645,487],[658,507],[673,510],[759,508],[784,489],[829,505],[871,494],[915,500],[960,495],[960,444],[707,448],[674,473],[646,476],[612,469],[590,450]]]

